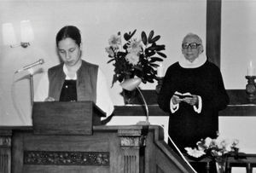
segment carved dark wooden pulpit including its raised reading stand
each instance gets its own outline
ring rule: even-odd
[[[157,125],[94,125],[92,102],[35,102],[33,126],[0,126],[1,173],[190,173]]]

